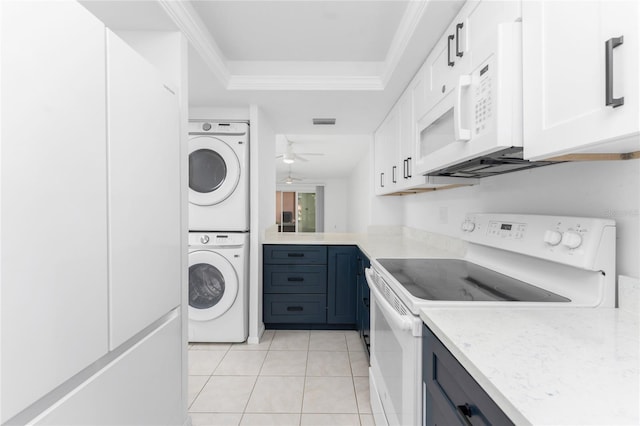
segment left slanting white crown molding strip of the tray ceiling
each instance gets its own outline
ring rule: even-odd
[[[158,3],[182,31],[193,48],[202,57],[209,69],[223,86],[229,84],[231,73],[222,51],[211,37],[198,12],[186,1],[158,0]]]

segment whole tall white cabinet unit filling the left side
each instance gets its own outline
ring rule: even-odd
[[[0,8],[0,422],[182,423],[175,94],[76,2]]]

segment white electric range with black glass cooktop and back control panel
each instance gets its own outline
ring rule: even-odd
[[[615,307],[612,220],[472,213],[461,238],[462,259],[374,259],[366,270],[377,425],[421,422],[422,308]]]

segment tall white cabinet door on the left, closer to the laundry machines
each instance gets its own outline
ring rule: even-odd
[[[107,32],[109,318],[115,348],[180,304],[178,104]]]

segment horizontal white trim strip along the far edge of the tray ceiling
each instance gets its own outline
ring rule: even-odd
[[[378,76],[232,75],[228,90],[384,90]]]

